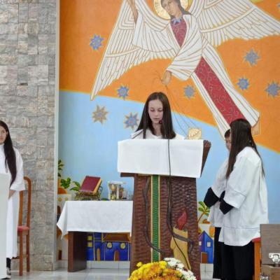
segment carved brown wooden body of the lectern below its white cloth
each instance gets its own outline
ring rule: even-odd
[[[211,144],[204,141],[203,163],[207,159],[207,155]],[[121,174],[121,176],[134,176],[134,204],[133,204],[133,218],[132,218],[132,252],[130,260],[130,274],[137,268],[138,262],[151,262],[153,260],[153,251],[147,241],[147,234],[145,226],[147,219],[148,225],[148,239],[152,240],[151,236],[151,213],[155,211],[153,207],[152,196],[153,183],[147,183],[153,176],[142,176],[138,174]],[[200,279],[200,248],[198,244],[198,225],[197,225],[197,190],[196,179],[172,176],[170,180],[169,190],[169,176],[160,176],[159,192],[158,192],[158,248],[164,251],[160,253],[160,260],[163,258],[170,258],[173,256],[173,251],[170,248],[172,233],[169,230],[167,223],[167,208],[168,204],[172,205],[172,228],[176,225],[176,221],[186,211],[188,219],[186,228],[188,229],[188,238],[193,241],[193,250],[188,254],[191,270]],[[147,192],[148,188],[148,192]],[[144,193],[148,193],[148,204],[144,199]]]

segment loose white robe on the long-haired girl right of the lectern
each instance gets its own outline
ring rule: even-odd
[[[267,186],[262,161],[253,148],[246,147],[237,155],[224,200],[233,208],[224,215],[219,241],[245,246],[260,237],[260,224],[268,223]]]

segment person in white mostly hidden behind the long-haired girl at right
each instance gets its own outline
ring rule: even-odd
[[[230,151],[231,139],[230,130],[225,132],[225,146]],[[226,179],[225,174],[228,169],[228,158],[223,162],[221,167],[218,169],[216,179],[213,186],[208,189],[207,194],[204,198],[204,203],[207,207],[210,207],[210,213],[208,221],[215,227],[214,235],[214,269],[213,278],[222,278],[222,246],[223,243],[218,241],[221,232],[221,227],[223,225],[223,212],[220,210],[220,197],[222,193],[225,193]]]

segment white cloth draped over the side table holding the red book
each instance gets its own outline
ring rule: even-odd
[[[68,201],[57,222],[67,232],[131,232],[132,201]]]

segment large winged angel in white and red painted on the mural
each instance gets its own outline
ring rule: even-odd
[[[249,0],[154,0],[154,6],[159,16],[145,0],[123,1],[92,99],[133,66],[172,59],[162,83],[168,85],[172,76],[192,78],[221,134],[237,118],[258,130],[260,113],[235,90],[215,47],[234,38],[278,35],[280,22]]]

